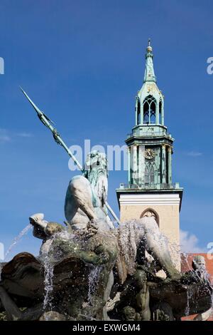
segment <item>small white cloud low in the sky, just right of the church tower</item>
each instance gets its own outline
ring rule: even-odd
[[[180,249],[185,253],[202,253],[207,252],[198,245],[198,238],[195,234],[180,230]]]

